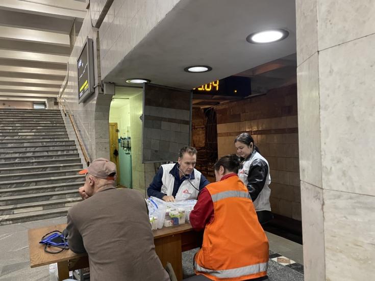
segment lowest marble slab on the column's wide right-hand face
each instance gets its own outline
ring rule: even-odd
[[[323,194],[327,280],[375,276],[375,196],[331,190]]]

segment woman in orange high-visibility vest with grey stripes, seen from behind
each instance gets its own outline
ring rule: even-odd
[[[216,162],[216,183],[198,196],[190,223],[205,229],[202,248],[194,257],[196,274],[212,280],[263,279],[268,268],[268,240],[251,196],[239,179],[236,155]]]

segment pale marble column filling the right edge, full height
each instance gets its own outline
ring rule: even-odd
[[[296,0],[306,281],[375,276],[375,1]]]

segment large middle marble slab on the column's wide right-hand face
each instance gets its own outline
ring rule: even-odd
[[[374,65],[375,35],[319,53],[324,189],[375,195]]]

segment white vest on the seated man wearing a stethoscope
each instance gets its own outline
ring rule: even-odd
[[[163,168],[163,177],[162,177],[163,185],[161,187],[161,193],[167,194],[167,196],[172,196],[172,192],[173,192],[175,178],[169,172],[173,168],[174,165],[176,164],[161,165],[161,167]],[[188,178],[186,178],[186,180],[182,182],[176,194],[176,198],[175,198],[176,201],[196,199],[198,197],[199,183],[201,182],[201,172],[198,172],[196,169],[194,169],[194,177],[195,178],[190,179],[191,184],[189,183]]]

